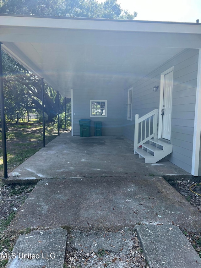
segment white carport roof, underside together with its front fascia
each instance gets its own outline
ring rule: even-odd
[[[124,89],[185,48],[201,47],[199,23],[1,14],[2,48],[62,96]]]

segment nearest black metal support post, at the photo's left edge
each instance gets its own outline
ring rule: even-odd
[[[3,94],[3,68],[2,68],[2,52],[0,42],[0,108],[1,108],[1,128],[2,128],[2,148],[3,148],[3,175],[4,179],[8,178],[7,167],[7,151],[6,151],[6,122],[5,122],[5,108],[4,108],[4,94]]]

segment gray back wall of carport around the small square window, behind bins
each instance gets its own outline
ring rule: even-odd
[[[107,100],[107,117],[90,117],[90,100]],[[73,89],[73,135],[80,135],[79,119],[91,119],[91,136],[94,136],[94,122],[102,122],[102,136],[123,134],[123,92],[122,90],[78,90]],[[75,114],[75,115],[74,115]]]

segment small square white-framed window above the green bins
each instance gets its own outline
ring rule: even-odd
[[[107,117],[107,101],[90,100],[90,117]]]

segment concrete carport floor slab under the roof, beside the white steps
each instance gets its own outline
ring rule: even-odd
[[[19,178],[12,176],[19,172]],[[145,164],[133,154],[133,141],[123,136],[79,137],[62,133],[9,174],[7,182],[43,178],[104,176],[191,176],[161,160]]]

